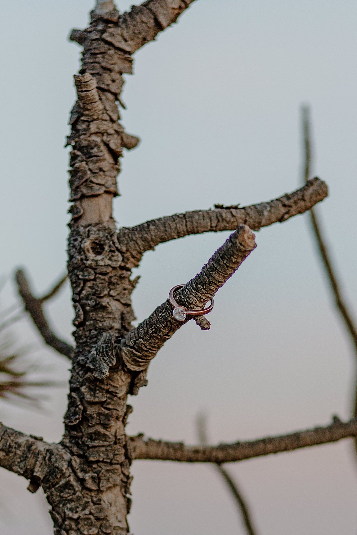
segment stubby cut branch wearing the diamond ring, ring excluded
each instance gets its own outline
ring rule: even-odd
[[[203,266],[201,272],[177,291],[177,301],[188,309],[203,307],[256,247],[254,238],[249,227],[240,225]],[[180,322],[172,316],[169,300],[157,307],[149,318],[125,338],[118,340],[120,347],[117,346],[117,351],[127,368],[133,371],[147,368],[165,341],[187,320]]]

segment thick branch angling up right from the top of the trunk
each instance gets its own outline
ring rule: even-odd
[[[139,6],[133,5],[130,12],[119,16],[116,27],[107,29],[103,39],[132,54],[176,22],[193,1],[147,0]]]

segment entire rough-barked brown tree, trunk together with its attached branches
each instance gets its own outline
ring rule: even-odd
[[[146,385],[146,370],[157,351],[184,322],[172,316],[169,301],[138,327],[131,293],[131,269],[159,243],[193,233],[231,230],[230,238],[177,294],[178,302],[200,308],[232,276],[255,247],[258,230],[309,210],[327,195],[318,178],[275,201],[238,208],[216,206],[143,223],[117,232],[112,198],[124,148],[138,138],[119,123],[117,103],[123,74],[132,72],[132,54],[170,26],[192,0],[148,0],[119,14],[111,0],[97,0],[85,30],[71,39],[83,47],[75,75],[78,100],[70,124],[71,213],[68,272],[75,309],[75,348],[50,330],[41,300],[23,273],[18,284],[28,312],[44,340],[72,360],[65,432],[60,444],[47,444],[0,426],[0,465],[43,487],[56,535],[126,535],[129,531],[130,465],[134,458],[222,463],[313,446],[357,435],[357,421],[338,419],[326,427],[260,441],[219,446],[180,444],[128,437],[128,395]],[[207,319],[196,318],[201,328]]]

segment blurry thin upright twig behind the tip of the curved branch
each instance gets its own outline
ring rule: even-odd
[[[308,181],[310,175],[311,161],[312,161],[312,148],[311,148],[311,134],[310,134],[310,110],[308,106],[302,106],[302,131],[303,131],[303,147],[304,147],[304,164],[303,164],[303,180]],[[327,280],[335,298],[335,304],[343,318],[344,324],[348,333],[352,339],[354,346],[355,357],[357,360],[357,324],[352,317],[350,310],[348,309],[347,301],[341,291],[341,285],[336,275],[336,268],[333,266],[331,256],[326,246],[323,233],[321,231],[321,225],[318,220],[316,210],[312,208],[310,210],[310,221],[312,223],[313,232],[317,241],[318,250],[322,259],[322,264],[325,269]],[[357,416],[357,380],[355,387],[355,398],[353,407],[353,416]],[[354,440],[355,449],[357,453],[357,438]]]

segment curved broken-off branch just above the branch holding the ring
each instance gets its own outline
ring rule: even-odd
[[[314,204],[322,201],[328,189],[322,180],[313,178],[295,192],[283,195],[274,201],[253,204],[244,208],[215,205],[214,210],[195,210],[176,213],[146,221],[141,225],[126,228],[118,233],[120,248],[132,267],[139,265],[145,251],[154,249],[159,243],[204,232],[232,231],[239,224],[248,225],[253,231],[259,230],[306,212]]]

